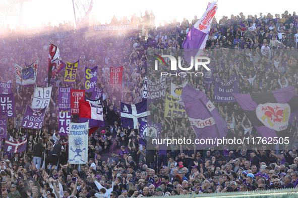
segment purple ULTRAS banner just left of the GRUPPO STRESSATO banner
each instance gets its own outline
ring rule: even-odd
[[[71,123],[71,108],[59,109],[59,135],[67,136],[69,134],[69,124]]]

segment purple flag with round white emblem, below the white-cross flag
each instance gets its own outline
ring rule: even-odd
[[[140,122],[140,137],[139,140],[140,144],[147,145],[146,142],[144,142],[142,139],[147,140],[147,138],[160,138],[160,133],[162,129],[161,123],[147,123],[147,122]]]

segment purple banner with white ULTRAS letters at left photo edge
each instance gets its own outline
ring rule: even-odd
[[[0,112],[6,112],[7,118],[15,117],[14,94],[0,94]]]

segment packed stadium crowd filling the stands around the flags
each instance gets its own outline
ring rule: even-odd
[[[12,80],[16,117],[7,120],[7,133],[16,139],[28,133],[27,150],[1,153],[2,197],[142,197],[191,193],[220,193],[293,188],[298,185],[298,134],[295,124],[288,128],[290,143],[276,149],[266,146],[246,149],[247,145],[197,150],[189,145],[147,150],[140,145],[138,129],[122,128],[120,101],[136,104],[142,100],[144,77],[154,81],[152,54],[183,55],[182,43],[197,22],[172,21],[157,28],[154,14],[133,15],[111,24],[145,23],[148,34],[115,31],[76,30],[71,23],[58,27],[9,27],[1,31],[0,81]],[[91,25],[97,22],[90,22]],[[287,11],[281,16],[223,16],[212,21],[205,56],[211,58],[213,75],[223,81],[237,73],[241,93],[266,92],[293,85],[297,88],[298,17]],[[68,137],[58,134],[59,73],[52,89],[49,111],[41,130],[21,128],[26,107],[31,104],[34,87],[17,86],[15,63],[39,60],[37,86],[46,86],[49,41],[55,44],[64,62],[80,60],[75,89],[84,89],[84,66],[98,65],[97,86],[103,88],[105,127],[89,136],[88,164],[69,164]],[[229,53],[232,52],[233,53]],[[151,64],[150,64],[151,63]],[[109,68],[123,66],[122,89],[109,88]],[[185,80],[204,91],[212,101],[213,86],[203,77],[170,77],[169,82]],[[296,89],[297,90],[297,89]],[[168,91],[170,92],[170,91]],[[87,95],[90,93],[86,93]],[[257,137],[258,132],[237,103],[214,103],[227,121],[228,137]],[[161,137],[193,137],[188,119],[164,118],[164,100],[150,105],[155,123],[163,123]],[[72,122],[79,122],[72,115]],[[294,122],[295,123],[295,122]],[[5,141],[3,141],[4,144]],[[2,149],[3,150],[3,149]],[[52,156],[59,156],[58,166]],[[51,165],[51,166],[50,166]]]

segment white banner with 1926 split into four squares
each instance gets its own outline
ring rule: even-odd
[[[32,108],[42,109],[48,107],[51,100],[52,86],[49,87],[35,87]]]

